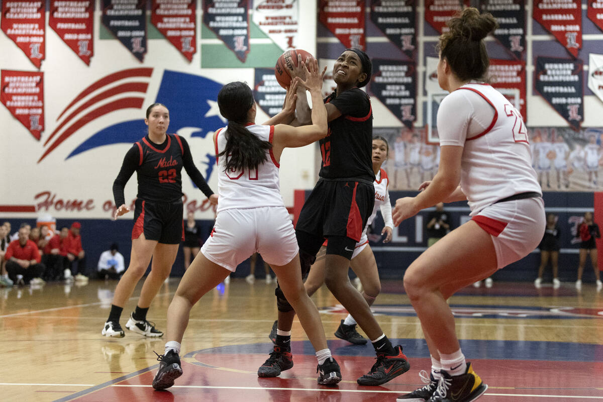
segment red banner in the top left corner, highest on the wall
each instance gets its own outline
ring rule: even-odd
[[[45,1],[2,2],[0,28],[40,68],[45,58]]]

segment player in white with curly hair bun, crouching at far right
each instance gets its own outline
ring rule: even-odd
[[[472,219],[428,248],[406,269],[404,287],[432,359],[428,385],[397,401],[470,402],[487,389],[466,362],[447,298],[537,247],[545,209],[519,111],[483,80],[489,13],[465,8],[440,36],[438,83],[450,92],[437,116],[440,169],[415,197],[397,199],[394,224],[439,202],[467,199]]]

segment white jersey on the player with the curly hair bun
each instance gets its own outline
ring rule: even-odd
[[[457,91],[461,93],[456,93]],[[499,199],[517,193],[541,193],[536,172],[532,168],[528,131],[519,111],[502,93],[490,85],[466,84],[457,91],[446,96],[440,104],[438,133],[442,146],[464,146],[461,159],[461,189],[467,196],[471,209],[470,215],[475,215]],[[455,130],[446,129],[444,126],[449,122],[440,122],[440,113],[444,113],[446,108],[449,109],[445,111],[446,115],[452,112],[452,115],[458,116],[459,119],[466,116],[455,113],[455,109],[473,108],[467,116],[469,122],[473,118],[478,118],[475,116],[480,115],[480,108],[488,107],[484,102],[470,105],[467,105],[466,101],[463,103],[466,99],[466,96],[463,96],[465,91],[477,93],[495,110],[490,126],[472,137],[467,133],[456,133]],[[443,127],[440,127],[440,124]],[[466,130],[469,124],[464,127]],[[461,135],[464,136],[460,137]]]

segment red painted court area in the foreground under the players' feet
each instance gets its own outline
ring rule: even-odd
[[[295,355],[294,368],[281,377],[259,378],[257,367],[265,356],[200,351],[183,359],[184,374],[166,391],[151,388],[154,368],[61,401],[395,401],[398,395],[422,386],[418,372],[431,364],[426,358],[411,358],[410,371],[393,381],[384,386],[361,387],[355,380],[368,371],[373,360],[367,356],[337,356],[344,380],[327,388],[316,382],[314,356]],[[473,365],[489,386],[480,401],[603,401],[602,362],[474,360]]]

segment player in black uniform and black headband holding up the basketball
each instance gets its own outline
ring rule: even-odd
[[[386,383],[410,368],[402,347],[391,344],[347,275],[356,242],[374,204],[373,112],[368,95],[360,89],[370,81],[371,70],[368,55],[358,49],[346,49],[335,61],[333,80],[337,87],[324,99],[329,128],[327,136],[319,141],[323,159],[320,178],[295,227],[303,277],[308,275],[324,239],[328,239],[325,283],[373,342],[377,362],[370,372],[358,378],[360,385]],[[298,71],[293,71],[292,76],[298,76]],[[297,101],[299,120],[299,116],[307,115],[309,107],[305,96],[298,96]],[[305,122],[293,122],[296,123]],[[280,287],[276,289],[276,297],[279,320],[275,343],[285,350],[289,347],[295,311]],[[288,368],[279,364],[281,361],[271,357],[260,366],[258,374],[276,377]]]

